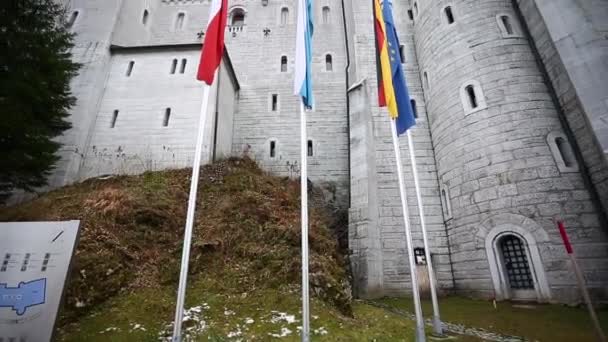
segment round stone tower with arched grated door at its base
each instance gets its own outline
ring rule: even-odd
[[[411,5],[456,289],[576,300],[553,220],[590,259],[607,238],[524,23],[509,0]]]

